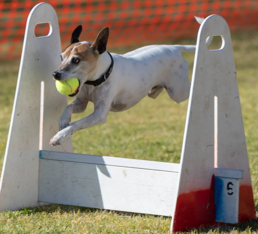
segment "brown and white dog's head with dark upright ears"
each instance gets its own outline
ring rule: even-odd
[[[99,55],[106,51],[108,43],[108,27],[100,31],[92,44],[88,41],[79,41],[81,31],[81,25],[75,28],[71,35],[70,45],[61,54],[62,64],[53,73],[56,80],[67,80],[74,77],[79,79],[79,88],[69,96],[75,96],[88,79],[94,78]]]

